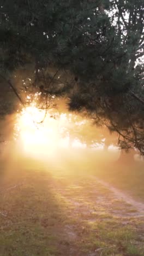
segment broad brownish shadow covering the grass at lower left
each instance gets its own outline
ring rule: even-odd
[[[51,174],[31,159],[5,166],[5,173],[4,169],[1,172],[0,255],[59,255],[61,251],[68,255],[61,244],[65,206],[53,191]]]

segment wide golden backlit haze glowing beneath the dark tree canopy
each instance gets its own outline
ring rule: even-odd
[[[91,119],[69,112],[63,98],[53,96],[57,106],[41,109],[40,96],[38,92],[26,94],[26,107],[1,121],[4,139],[0,150],[7,164],[30,158],[66,170],[70,163],[81,169],[94,168],[95,162],[119,158],[116,133],[110,134],[106,127],[98,128]]]

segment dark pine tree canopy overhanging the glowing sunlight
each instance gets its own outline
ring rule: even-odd
[[[0,75],[31,63],[46,108],[65,95],[143,155],[143,20],[143,0],[3,0]]]

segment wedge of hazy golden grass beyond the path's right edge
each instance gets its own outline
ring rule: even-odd
[[[91,173],[103,181],[144,202],[144,164],[135,162],[133,166],[121,166],[108,163],[103,166],[92,166],[91,170]]]

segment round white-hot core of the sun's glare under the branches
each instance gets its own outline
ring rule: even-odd
[[[57,143],[57,124],[45,110],[35,106],[23,108],[17,121],[22,147],[28,154],[39,155],[53,152]]]

